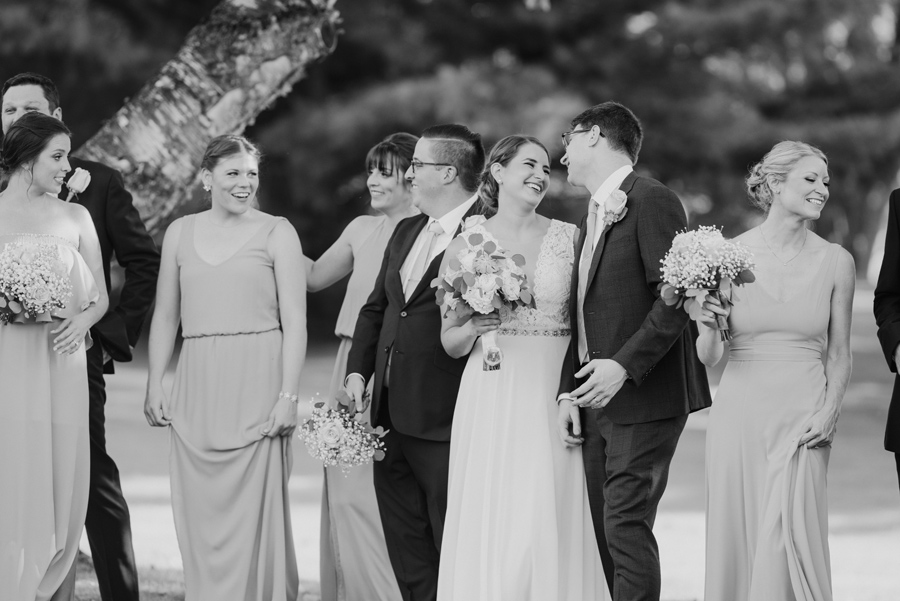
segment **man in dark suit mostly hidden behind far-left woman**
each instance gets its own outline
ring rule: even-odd
[[[28,112],[62,119],[56,85],[42,75],[21,73],[3,84],[3,132]],[[119,470],[106,452],[105,373],[113,373],[113,361],[131,361],[144,318],[156,293],[159,252],[147,233],[121,174],[100,163],[69,158],[73,172],[80,167],[91,174],[88,187],[72,202],[91,214],[103,253],[106,288],[109,289],[113,253],[125,268],[125,284],[119,302],[91,329],[94,345],[87,352],[90,390],[91,487],[85,529],[91,545],[94,569],[103,601],[138,601],[137,569],[131,543],[131,519],[122,495]],[[71,173],[69,177],[71,177]],[[68,178],[67,178],[68,181]],[[63,187],[60,198],[67,198]]]

